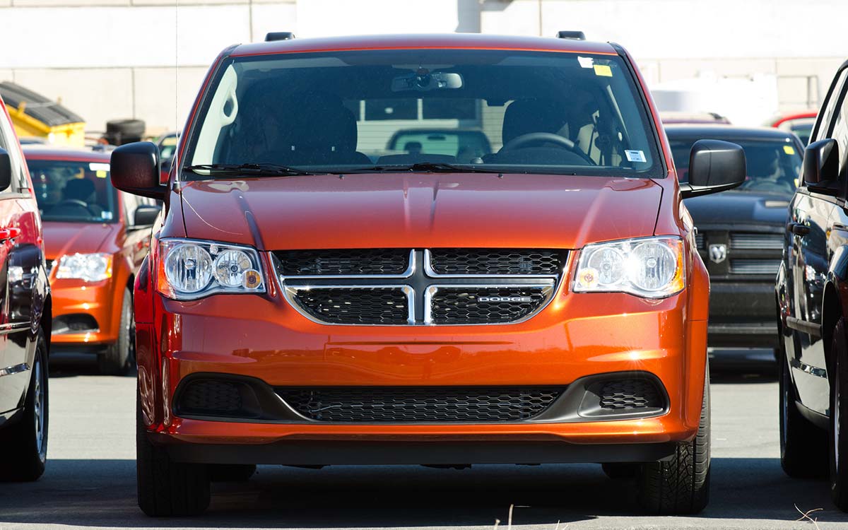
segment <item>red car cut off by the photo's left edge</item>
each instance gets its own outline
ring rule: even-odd
[[[0,98],[0,480],[47,462],[50,286],[29,172]]]

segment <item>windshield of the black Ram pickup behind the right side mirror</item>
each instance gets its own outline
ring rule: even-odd
[[[689,181],[689,153],[692,144],[702,138],[669,138],[672,147],[674,165],[678,169],[679,180]],[[797,179],[801,172],[800,149],[790,138],[750,140],[722,138],[742,146],[745,150],[747,176],[739,192],[769,192],[792,195],[798,187]]]

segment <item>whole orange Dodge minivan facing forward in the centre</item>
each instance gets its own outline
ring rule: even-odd
[[[490,153],[380,156],[393,133]],[[256,464],[600,462],[656,513],[707,502],[709,279],[685,197],[745,178],[695,142],[678,184],[615,44],[481,35],[227,48],[135,285],[138,502],[198,513]],[[467,156],[467,153],[466,153]]]

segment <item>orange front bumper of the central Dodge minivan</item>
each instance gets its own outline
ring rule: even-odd
[[[153,443],[168,445],[178,460],[661,460],[673,444],[693,438],[700,421],[706,321],[689,320],[686,291],[663,300],[557,293],[532,319],[492,326],[326,326],[299,315],[273,289],[265,297],[217,295],[192,302],[153,294],[153,303],[154,323],[137,324],[142,417]],[[180,382],[202,373],[253,377],[280,388],[567,386],[632,371],[661,382],[665,414],[487,424],[220,421],[178,416],[173,403]],[[422,449],[431,446],[432,453]],[[349,450],[354,447],[362,451]]]

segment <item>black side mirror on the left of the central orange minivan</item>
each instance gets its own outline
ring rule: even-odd
[[[159,148],[153,142],[133,142],[112,152],[112,185],[123,192],[164,199],[167,187],[159,183]]]

